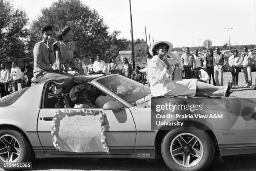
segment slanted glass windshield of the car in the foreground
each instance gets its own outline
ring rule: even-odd
[[[115,94],[133,106],[136,105],[137,100],[144,97],[143,87],[145,97],[151,94],[149,87],[143,86],[143,84],[121,75],[113,75],[111,77],[102,78],[97,82],[108,88],[110,91],[115,92]]]

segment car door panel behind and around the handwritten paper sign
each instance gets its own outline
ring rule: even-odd
[[[52,95],[48,92],[44,94],[46,100],[49,100],[49,95]],[[54,102],[45,102],[45,104],[51,103]],[[54,108],[53,106],[48,107],[46,105],[43,105],[42,109],[39,111],[37,131],[39,139],[41,141],[41,145],[43,146],[46,154],[63,153],[63,151],[56,150],[53,145],[51,135],[52,120],[53,117],[56,115],[56,111],[58,110],[63,111],[65,110],[65,108]],[[69,110],[79,110],[79,108],[69,108]],[[103,111],[102,108],[90,108],[90,110]],[[136,127],[130,110],[126,107],[123,107],[119,111],[106,110],[104,112],[106,143],[110,148],[110,154],[132,154],[134,151],[136,140]],[[70,131],[74,132],[75,130]]]

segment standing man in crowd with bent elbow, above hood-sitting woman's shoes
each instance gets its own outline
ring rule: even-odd
[[[213,54],[214,78],[216,86],[223,86],[223,67],[228,63],[228,58],[220,53],[220,48],[215,48],[216,53]]]

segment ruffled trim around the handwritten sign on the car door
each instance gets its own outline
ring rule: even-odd
[[[57,140],[57,136],[59,136],[59,126],[60,126],[60,120],[62,120],[64,117],[72,117],[75,115],[81,115],[81,116],[86,116],[86,115],[101,115],[100,117],[100,127],[101,127],[101,145],[105,149],[107,153],[109,153],[109,148],[106,143],[106,126],[104,124],[104,117],[105,117],[105,112],[101,110],[90,110],[90,109],[79,109],[79,110],[70,110],[70,109],[65,109],[63,112],[61,110],[56,111],[56,115],[52,119],[52,125],[51,125],[51,135],[52,135],[52,140],[53,140],[53,145],[57,150],[62,150],[60,147],[60,142]],[[57,136],[56,136],[57,135]]]

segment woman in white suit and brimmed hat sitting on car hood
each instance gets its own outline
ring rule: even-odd
[[[172,64],[164,56],[172,51],[172,43],[158,41],[152,44],[149,49],[153,56],[148,64],[148,77],[153,96],[225,96],[231,92],[232,82],[228,81],[226,86],[213,86],[197,79],[183,79],[172,81]]]

